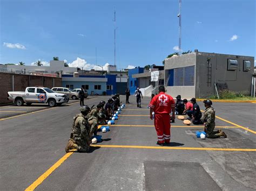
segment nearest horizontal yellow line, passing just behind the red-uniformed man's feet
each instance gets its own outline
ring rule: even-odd
[[[198,151],[246,151],[255,152],[256,148],[210,148],[210,147],[172,147],[172,146],[137,146],[137,145],[91,145],[108,148],[147,148],[161,150],[198,150]]]

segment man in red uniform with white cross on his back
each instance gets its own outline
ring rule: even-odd
[[[175,105],[172,96],[165,94],[164,86],[159,87],[159,94],[154,96],[149,104],[150,118],[153,119],[154,111],[154,127],[157,131],[157,144],[164,146],[169,144],[171,139],[170,113],[172,111],[172,119],[175,119]]]

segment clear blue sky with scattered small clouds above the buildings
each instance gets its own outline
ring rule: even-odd
[[[0,63],[58,56],[90,68],[97,47],[97,64],[113,64],[114,9],[118,68],[161,65],[177,52],[178,0],[0,2]],[[183,0],[181,15],[183,51],[256,55],[254,0]]]

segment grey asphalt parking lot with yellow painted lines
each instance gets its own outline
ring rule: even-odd
[[[85,104],[107,98],[91,97]],[[79,103],[2,118],[1,190],[256,189],[256,104],[238,104],[235,110],[228,110],[233,103],[213,104],[217,116],[233,123],[216,119],[225,139],[196,138],[201,125],[187,126],[176,119],[171,124],[171,146],[160,147],[146,107],[150,98],[143,98],[145,106],[140,109],[135,97],[130,101],[110,131],[98,133],[104,140],[90,153],[64,150]]]

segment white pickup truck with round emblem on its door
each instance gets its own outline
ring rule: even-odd
[[[65,94],[59,94],[45,87],[27,87],[25,91],[8,91],[8,100],[21,106],[24,103],[48,103],[50,107],[69,101]]]

